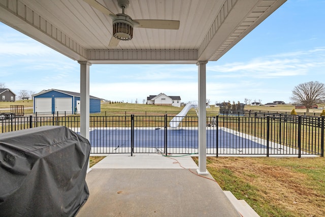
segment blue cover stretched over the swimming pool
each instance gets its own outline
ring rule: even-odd
[[[157,128],[134,130],[134,147],[163,148],[165,130]],[[167,130],[169,148],[198,148],[198,130]],[[207,130],[207,148],[266,148],[250,139],[226,132],[224,130]],[[92,147],[131,147],[130,129],[92,130],[89,134]]]

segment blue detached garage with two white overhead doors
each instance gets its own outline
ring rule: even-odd
[[[34,97],[34,112],[80,111],[80,94],[58,89],[43,90]],[[90,113],[101,112],[101,99],[89,96]]]

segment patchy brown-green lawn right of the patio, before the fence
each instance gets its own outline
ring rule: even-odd
[[[325,216],[324,158],[208,157],[207,169],[260,216]]]

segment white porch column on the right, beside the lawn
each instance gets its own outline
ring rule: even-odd
[[[199,66],[199,175],[207,172],[207,111],[206,111],[206,64],[208,61],[198,61]]]

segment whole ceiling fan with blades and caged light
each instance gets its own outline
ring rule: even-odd
[[[133,28],[158,28],[158,29],[179,29],[178,20],[134,20],[124,13],[129,5],[129,0],[117,0],[118,6],[122,9],[121,14],[114,14],[96,0],[84,0],[90,6],[110,16],[113,20],[113,37],[108,46],[116,47],[120,40],[128,41],[133,38]]]

